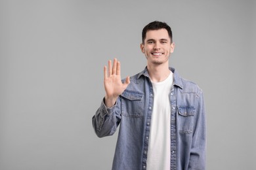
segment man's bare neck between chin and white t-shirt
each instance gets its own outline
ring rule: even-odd
[[[147,69],[152,82],[162,82],[171,73],[169,65],[147,65]]]

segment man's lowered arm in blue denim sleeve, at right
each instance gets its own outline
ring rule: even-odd
[[[198,108],[194,120],[194,132],[188,169],[205,169],[206,122],[202,90],[198,92]]]

